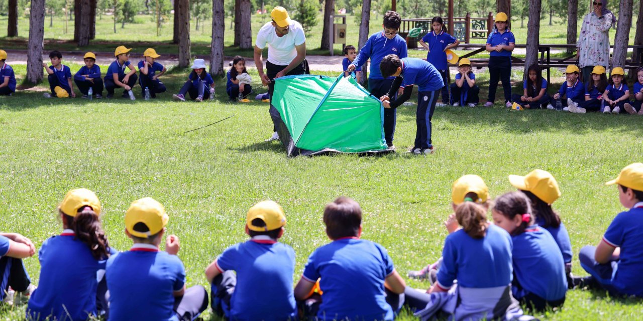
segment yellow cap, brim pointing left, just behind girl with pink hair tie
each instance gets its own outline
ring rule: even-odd
[[[530,191],[547,204],[553,204],[561,196],[556,178],[542,169],[534,169],[526,176],[509,175],[509,183],[517,189]]]

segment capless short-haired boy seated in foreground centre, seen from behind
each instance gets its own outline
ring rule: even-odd
[[[332,242],[309,256],[294,297],[308,299],[320,279],[317,320],[393,320],[406,284],[384,247],[359,239],[359,204],[340,197],[326,205],[323,221]]]

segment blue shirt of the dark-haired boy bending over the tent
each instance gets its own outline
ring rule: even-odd
[[[402,58],[401,76],[404,86],[417,85],[417,91],[437,91],[444,87],[438,69],[420,58]]]

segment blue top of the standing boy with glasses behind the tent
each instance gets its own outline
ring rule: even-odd
[[[356,68],[361,67],[370,58],[370,74],[368,74],[368,78],[384,79],[379,72],[379,63],[388,55],[406,58],[406,40],[400,35],[395,35],[393,39],[388,39],[385,37],[384,31],[377,31],[368,37],[366,44],[359,49],[358,55],[350,64],[355,65]],[[393,78],[389,77],[387,79]]]

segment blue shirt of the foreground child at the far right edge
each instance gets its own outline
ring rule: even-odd
[[[620,247],[617,268],[611,284],[621,293],[643,297],[643,202],[619,213],[605,231],[603,241]]]

